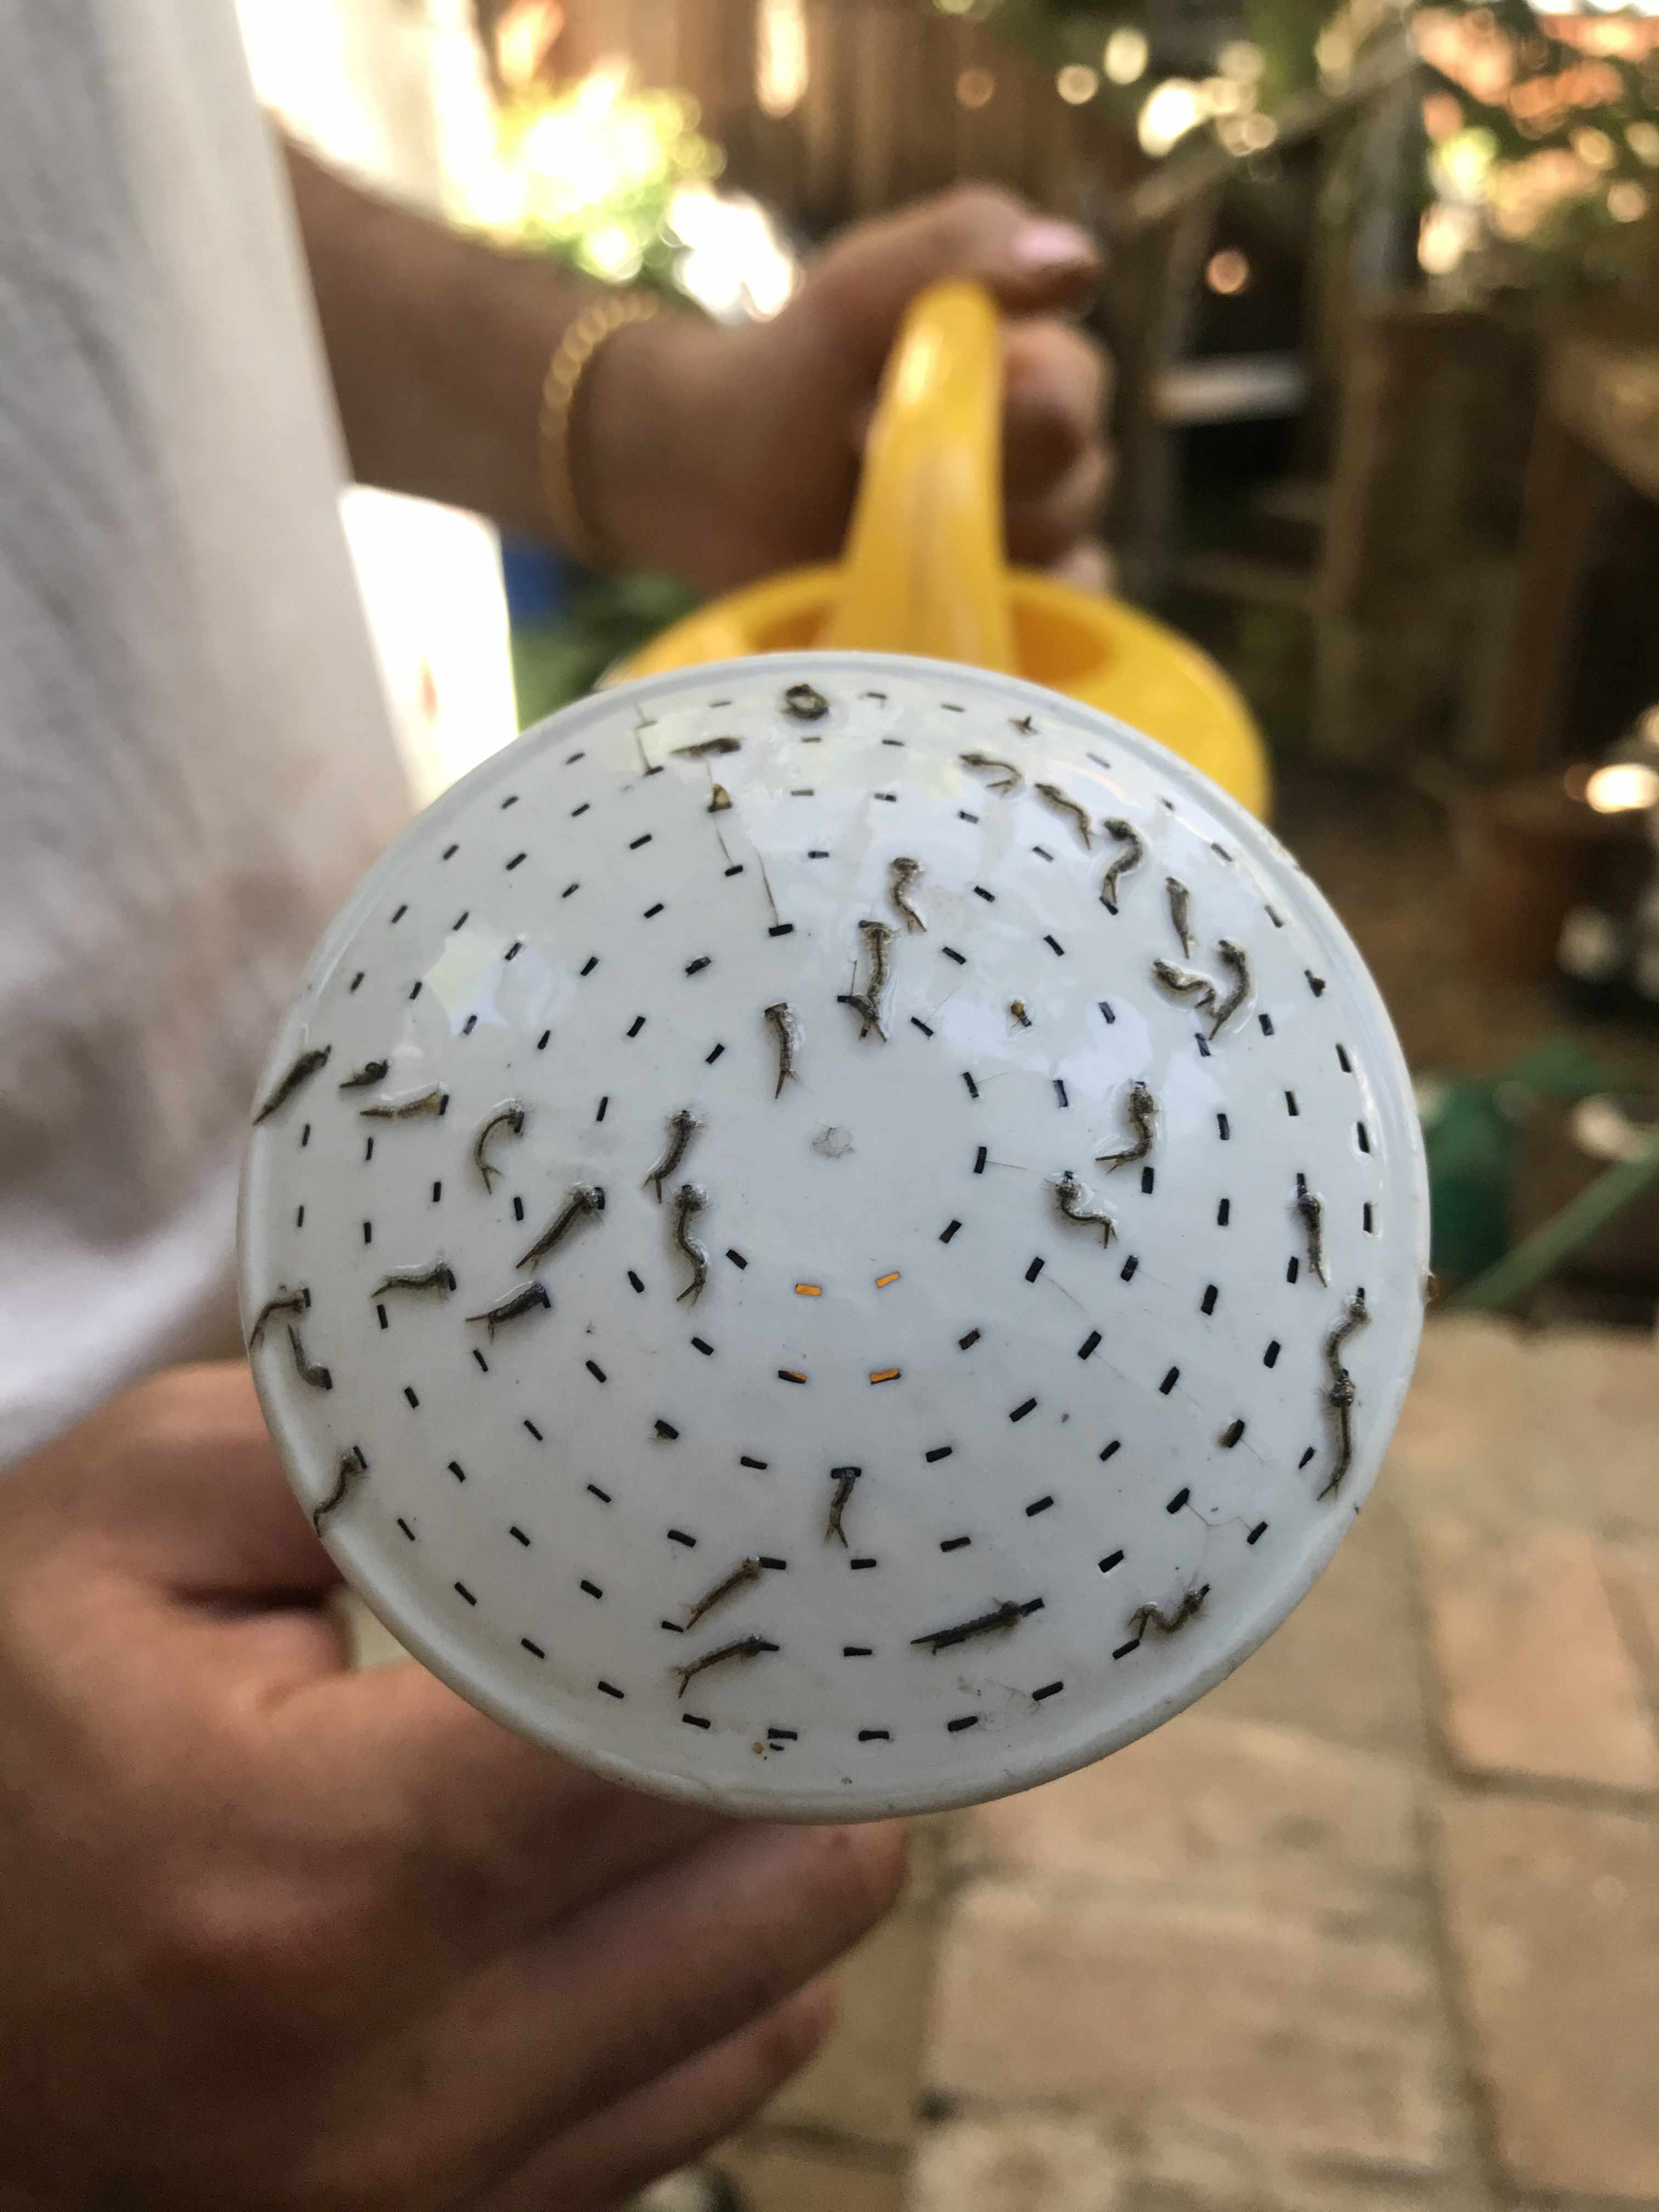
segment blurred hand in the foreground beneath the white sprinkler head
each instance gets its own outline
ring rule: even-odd
[[[345,1668],[243,1367],[0,1482],[0,2208],[597,2212],[763,2101],[896,1829],[595,1781]]]

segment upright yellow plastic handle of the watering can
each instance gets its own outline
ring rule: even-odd
[[[1002,560],[1002,336],[982,285],[936,283],[909,305],[821,644],[1015,668]]]

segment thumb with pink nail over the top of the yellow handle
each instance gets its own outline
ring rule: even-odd
[[[1011,314],[1064,307],[1099,276],[1086,230],[1040,215],[989,184],[958,186],[860,223],[830,248],[801,305],[827,316],[843,358],[867,374],[885,358],[911,299],[938,276],[967,276]]]

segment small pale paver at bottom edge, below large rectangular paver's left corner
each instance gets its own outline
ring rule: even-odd
[[[922,2137],[905,2212],[1124,2212],[1124,2179],[1119,2150],[1088,2121],[953,2119]]]

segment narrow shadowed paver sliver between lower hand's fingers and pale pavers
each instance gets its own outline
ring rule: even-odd
[[[841,2011],[818,2055],[765,2108],[768,2126],[821,2128],[905,2150],[933,1993],[949,1820],[914,1820],[905,1893],[841,1962]]]

